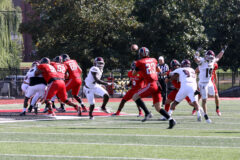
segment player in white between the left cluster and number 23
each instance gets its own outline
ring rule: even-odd
[[[112,83],[107,83],[101,80],[103,68],[104,68],[104,60],[102,57],[97,57],[94,60],[94,66],[92,66],[89,70],[89,73],[85,79],[85,85],[83,87],[84,93],[88,99],[88,103],[90,104],[89,108],[89,118],[93,119],[93,110],[95,108],[95,99],[94,95],[98,95],[103,97],[103,103],[101,106],[101,110],[108,113],[106,109],[106,104],[109,100],[108,92],[100,85],[113,85]]]

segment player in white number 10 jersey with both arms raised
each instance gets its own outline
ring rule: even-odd
[[[225,46],[221,52],[215,57],[215,54],[212,50],[208,50],[205,53],[204,57],[199,57],[199,49],[196,51],[194,60],[195,62],[198,64],[198,69],[199,69],[199,83],[198,83],[198,87],[200,90],[200,94],[202,97],[202,107],[204,110],[204,117],[205,119],[209,119],[208,115],[207,115],[207,98],[208,95],[210,96],[214,96],[215,92],[214,92],[214,86],[213,83],[211,81],[211,77],[212,77],[212,71],[214,68],[214,63],[218,62],[223,54],[224,51],[226,50],[227,46]],[[211,122],[211,120],[209,119],[209,121]]]

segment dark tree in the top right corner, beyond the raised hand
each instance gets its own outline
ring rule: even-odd
[[[234,72],[240,66],[240,1],[209,0],[204,11],[206,34],[209,37],[209,48],[219,52],[228,44],[228,49],[219,64],[224,69]]]

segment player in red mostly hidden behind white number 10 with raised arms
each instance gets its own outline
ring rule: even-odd
[[[218,64],[215,63],[214,64],[214,68],[213,68],[213,72],[212,72],[212,77],[211,80],[213,82],[213,86],[214,86],[214,91],[215,91],[215,104],[216,104],[216,112],[218,116],[221,116],[221,112],[219,110],[219,95],[218,95],[218,90],[217,90],[217,74],[216,74],[216,70],[218,69]]]

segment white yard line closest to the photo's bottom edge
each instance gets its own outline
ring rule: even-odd
[[[103,156],[67,156],[67,155],[28,155],[28,154],[0,154],[1,156],[17,156],[17,157],[45,157],[45,158],[86,158],[86,159],[139,159],[139,160],[173,160],[159,158],[138,158],[138,157],[103,157]],[[180,159],[174,159],[180,160]],[[183,160],[183,159],[182,159]]]

